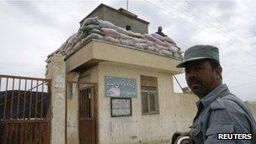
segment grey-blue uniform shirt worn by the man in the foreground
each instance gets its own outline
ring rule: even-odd
[[[190,135],[195,144],[251,144],[251,140],[217,140],[217,133],[255,133],[256,123],[241,99],[221,84],[197,103]]]

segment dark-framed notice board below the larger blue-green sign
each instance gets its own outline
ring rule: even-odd
[[[131,98],[110,98],[111,117],[131,116]]]

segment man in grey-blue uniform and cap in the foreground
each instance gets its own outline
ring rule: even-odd
[[[190,136],[195,144],[250,144],[255,137],[221,137],[220,133],[250,133],[255,135],[256,124],[248,107],[241,99],[230,93],[222,83],[222,68],[218,48],[211,45],[195,45],[184,53],[187,84],[199,97],[197,114],[190,127]],[[230,139],[230,140],[223,140]]]

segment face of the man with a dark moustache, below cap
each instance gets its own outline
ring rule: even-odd
[[[185,66],[185,76],[189,88],[200,99],[218,86],[219,74],[212,69],[209,61],[191,61]]]

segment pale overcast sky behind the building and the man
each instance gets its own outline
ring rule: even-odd
[[[118,9],[126,1],[1,1],[0,73],[45,77],[47,55],[100,3]],[[150,34],[163,26],[183,51],[217,46],[223,83],[239,98],[256,101],[256,1],[136,0],[129,1],[128,10],[150,22]],[[186,87],[184,74],[177,77]]]

